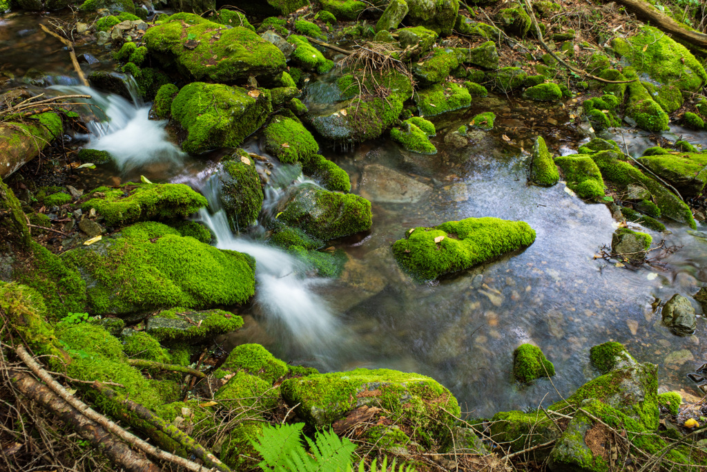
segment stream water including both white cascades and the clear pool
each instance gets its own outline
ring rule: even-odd
[[[13,34],[24,38],[21,30],[16,26]],[[16,69],[20,73],[22,65]],[[47,82],[59,83],[66,81]],[[261,342],[286,360],[321,369],[387,367],[428,374],[473,415],[547,405],[559,398],[555,388],[563,396],[570,393],[597,374],[588,366],[588,352],[607,340],[626,344],[641,362],[658,364],[661,386],[699,393],[686,374],[707,360],[704,321],[698,321],[695,335],[679,338],[661,326],[651,304],[674,293],[689,297],[707,283],[707,234],[665,221],[670,234],[648,232],[678,250],[657,263],[616,267],[595,258],[617,226],[609,209],[583,202],[562,183],[525,183],[525,150],[538,134],[558,154],[578,148],[581,137],[560,105],[478,99],[472,108],[436,120],[435,156],[409,153],[383,139],[345,152],[322,149],[349,173],[352,192],[373,204],[369,234],[332,243],[346,251],[349,262],[339,280],[325,280],[263,243],[262,228],[230,231],[211,179],[223,151],[182,154],[166,123],[147,119],[149,104],[76,86],[54,90],[88,92],[100,108],[93,110],[98,118],[83,139],[88,147],[110,151],[116,162],[85,171],[87,182],[115,184],[146,175],[155,182],[189,183],[209,198],[211,213],[204,210],[199,219],[216,234],[216,245],[255,258],[257,293],[240,311],[247,335],[237,335],[236,342]],[[320,98],[330,93],[327,84],[312,84],[311,90]],[[472,133],[460,149],[445,144],[448,131],[487,110],[498,116],[493,131]],[[707,133],[677,127],[673,132],[707,146]],[[653,145],[641,132],[615,139],[635,155]],[[265,155],[255,137],[244,147]],[[291,166],[272,169],[278,185],[266,189],[266,207],[287,185],[302,182],[291,172]],[[399,271],[390,244],[408,229],[484,216],[527,221],[537,239],[525,251],[430,284],[411,282]],[[520,386],[513,380],[513,350],[526,342],[542,347],[554,362],[552,384],[541,379]]]

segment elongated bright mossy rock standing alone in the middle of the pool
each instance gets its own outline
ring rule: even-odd
[[[419,280],[433,280],[525,248],[533,241],[535,231],[524,221],[484,217],[412,229],[404,239],[395,241],[392,249],[404,270]]]

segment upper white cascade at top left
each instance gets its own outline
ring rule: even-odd
[[[169,141],[165,131],[166,120],[149,120],[150,105],[144,104],[136,93],[134,81],[127,81],[134,100],[130,103],[122,96],[101,93],[86,86],[52,86],[67,94],[90,95],[83,100],[86,111],[96,120],[88,122],[90,132],[87,149],[108,151],[121,171],[144,166],[147,163],[169,162],[181,164],[187,156]]]

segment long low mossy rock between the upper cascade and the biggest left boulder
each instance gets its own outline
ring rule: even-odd
[[[95,208],[108,226],[123,226],[148,219],[188,217],[206,207],[206,198],[182,183],[126,183],[119,188],[99,187],[81,199],[84,212]]]

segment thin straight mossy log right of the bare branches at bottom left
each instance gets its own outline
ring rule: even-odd
[[[214,456],[214,454],[212,454],[210,451],[207,451],[192,437],[189,437],[189,435],[185,434],[174,425],[166,422],[159,416],[155,415],[143,405],[135,403],[134,401],[129,400],[128,398],[125,398],[124,395],[121,395],[112,388],[107,388],[107,386],[101,384],[98,381],[93,382],[93,387],[100,391],[100,393],[103,393],[106,398],[110,398],[112,401],[124,405],[125,408],[137,415],[138,418],[145,420],[164,434],[167,434],[171,439],[177,442],[177,444],[184,448],[185,451],[187,451],[189,454],[194,454],[194,456],[201,459],[201,461],[204,461],[204,464],[206,464],[206,466],[215,468],[217,471],[220,472],[230,472],[230,468],[228,468],[226,464],[223,464],[223,462],[218,460],[218,457]]]

